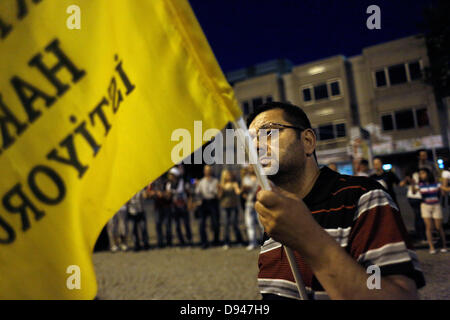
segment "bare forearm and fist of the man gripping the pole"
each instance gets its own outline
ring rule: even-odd
[[[367,287],[368,274],[314,220],[302,200],[279,188],[260,191],[255,209],[265,231],[299,252],[332,299],[417,299],[406,276],[381,278],[381,289]]]

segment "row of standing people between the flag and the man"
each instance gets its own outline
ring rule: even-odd
[[[192,216],[198,221],[199,244],[203,249],[210,246],[228,249],[232,244],[247,245],[248,250],[259,248],[263,230],[254,209],[258,183],[252,167],[243,167],[239,177],[235,171],[223,169],[220,180],[214,177],[209,165],[203,173],[201,179],[186,181],[184,168],[178,165],[135,194],[107,224],[110,250],[171,247],[173,225],[177,245],[193,246],[197,243],[193,239]],[[153,202],[154,245],[150,244],[146,200]],[[242,214],[246,234],[240,228]]]

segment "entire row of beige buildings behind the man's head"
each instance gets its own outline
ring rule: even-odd
[[[411,36],[350,58],[298,66],[278,60],[227,77],[244,115],[271,100],[300,106],[316,131],[321,164],[333,162],[351,173],[355,160],[380,156],[403,170],[418,149],[430,150],[435,159],[448,156],[449,130],[440,117],[449,113],[438,111],[423,81],[428,65],[424,40]]]

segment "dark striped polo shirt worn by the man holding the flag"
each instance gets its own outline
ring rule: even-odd
[[[413,279],[417,288],[425,285],[399,209],[378,182],[323,167],[303,201],[316,222],[364,269],[375,264],[382,276],[404,275]],[[328,299],[300,254],[294,251],[294,255],[309,298]],[[300,298],[280,243],[265,236],[258,267],[263,299]]]

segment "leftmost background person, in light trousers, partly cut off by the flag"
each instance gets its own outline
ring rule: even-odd
[[[111,252],[117,252],[119,249],[127,251],[128,221],[126,204],[108,221],[106,230],[108,232],[109,250]]]

